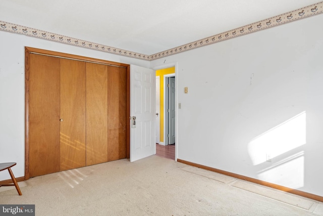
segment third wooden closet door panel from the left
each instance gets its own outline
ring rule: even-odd
[[[86,63],[86,165],[107,162],[107,65]]]

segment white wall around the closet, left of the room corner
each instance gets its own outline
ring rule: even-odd
[[[148,61],[0,31],[0,163],[15,161],[16,178],[25,175],[25,47],[149,67]],[[10,179],[0,172],[0,181]]]

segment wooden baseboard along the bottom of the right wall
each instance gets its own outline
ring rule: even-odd
[[[221,170],[221,169],[212,168],[212,167],[209,167],[209,166],[204,166],[204,165],[189,162],[189,161],[186,161],[186,160],[177,159],[177,161],[181,162],[181,163],[185,163],[187,165],[191,165],[191,166],[195,166],[195,167],[198,167],[198,168],[206,169],[206,170],[209,170],[209,171],[218,172],[219,174],[223,174],[223,175],[226,175],[226,176],[231,176],[233,178],[242,179],[242,180],[245,180],[245,181],[248,181],[248,182],[256,183],[258,185],[263,185],[263,186],[275,188],[275,189],[278,189],[278,190],[281,190],[281,191],[285,191],[285,192],[288,192],[288,193],[292,193],[292,194],[295,194],[295,195],[299,195],[299,196],[303,196],[303,197],[306,197],[306,198],[310,198],[310,199],[314,199],[314,200],[323,202],[323,197],[315,195],[315,194],[310,194],[310,193],[307,193],[307,192],[304,192],[304,191],[299,191],[299,190],[287,188],[287,187],[284,187],[284,186],[281,186],[281,185],[276,185],[276,184],[261,181],[261,180],[258,180],[258,179],[253,179],[253,178],[250,178],[250,177],[234,174],[233,172],[228,172],[228,171],[224,171],[224,170]]]

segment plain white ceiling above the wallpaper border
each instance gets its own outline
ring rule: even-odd
[[[0,20],[152,55],[317,0],[1,0]]]

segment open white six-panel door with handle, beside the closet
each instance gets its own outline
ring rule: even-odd
[[[155,82],[154,70],[130,65],[131,162],[156,153]]]

